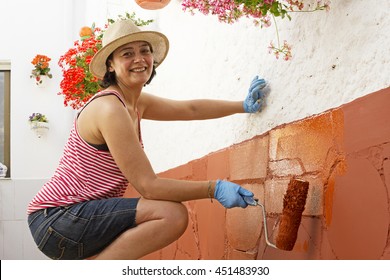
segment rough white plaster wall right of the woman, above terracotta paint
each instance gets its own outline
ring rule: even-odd
[[[278,20],[281,38],[293,45],[294,58],[285,62],[267,52],[269,42],[276,40],[273,27],[191,16],[181,10],[180,1],[171,1],[156,14],[158,29],[170,39],[170,53],[146,91],[178,99],[242,100],[259,74],[272,92],[259,115],[191,124],[144,121],[146,152],[156,171],[389,86],[389,9],[387,0],[375,5],[332,1],[329,13]]]

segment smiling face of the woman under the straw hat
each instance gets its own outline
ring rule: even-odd
[[[144,41],[131,42],[113,52],[109,71],[115,71],[118,83],[144,85],[153,71],[153,54]]]

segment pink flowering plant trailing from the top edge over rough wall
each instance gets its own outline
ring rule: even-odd
[[[306,7],[307,6],[307,7]],[[270,43],[268,49],[276,58],[284,56],[284,60],[292,58],[291,45],[280,43],[276,17],[288,18],[294,12],[315,12],[330,9],[329,0],[317,0],[314,5],[306,5],[302,0],[183,0],[184,11],[194,14],[195,11],[205,15],[216,15],[221,22],[233,24],[241,17],[253,18],[254,24],[260,27],[271,26],[274,21],[277,43]]]

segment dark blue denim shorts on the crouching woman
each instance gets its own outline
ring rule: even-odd
[[[92,200],[31,213],[28,225],[39,250],[55,260],[94,256],[136,226],[139,198]]]

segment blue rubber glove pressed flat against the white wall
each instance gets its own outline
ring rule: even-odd
[[[255,113],[261,111],[264,104],[264,98],[266,95],[264,87],[267,85],[264,79],[259,79],[256,76],[251,83],[248,90],[248,96],[243,102],[244,110],[246,113]]]

